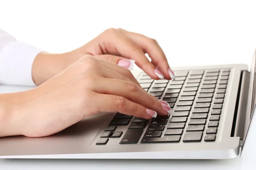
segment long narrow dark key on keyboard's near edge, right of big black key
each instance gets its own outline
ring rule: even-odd
[[[180,135],[164,136],[163,138],[144,138],[140,143],[170,143],[180,142]]]

